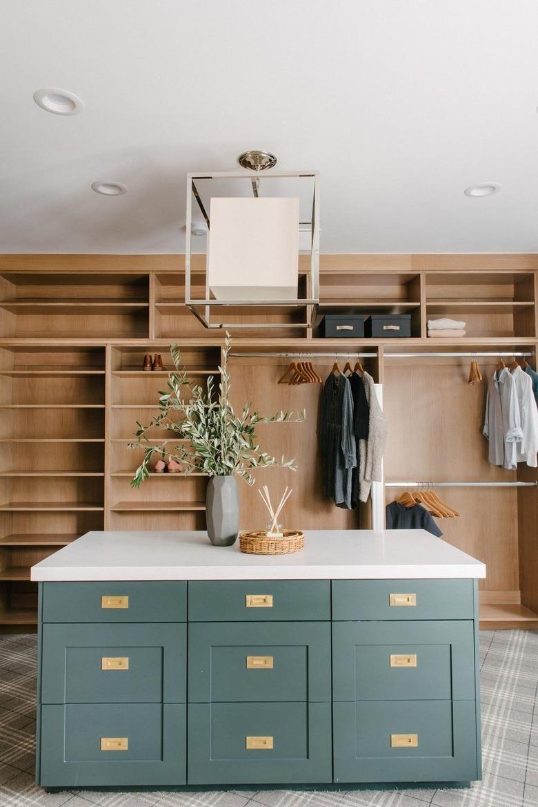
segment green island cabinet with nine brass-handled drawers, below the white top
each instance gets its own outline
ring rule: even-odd
[[[52,562],[44,788],[481,778],[476,579],[50,579]]]

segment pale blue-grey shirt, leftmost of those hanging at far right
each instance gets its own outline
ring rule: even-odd
[[[495,370],[487,388],[482,434],[490,442],[489,460],[507,470],[517,468],[517,443],[523,441],[519,405],[510,370]]]

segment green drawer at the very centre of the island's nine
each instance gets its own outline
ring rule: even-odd
[[[189,626],[189,703],[330,699],[329,622]]]

